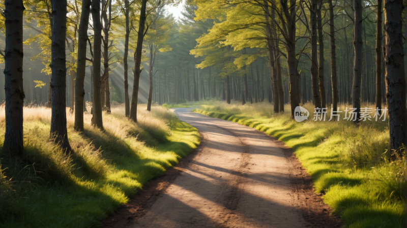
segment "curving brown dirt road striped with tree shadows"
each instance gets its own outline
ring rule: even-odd
[[[177,109],[201,145],[105,227],[337,227],[292,151],[253,128]]]

